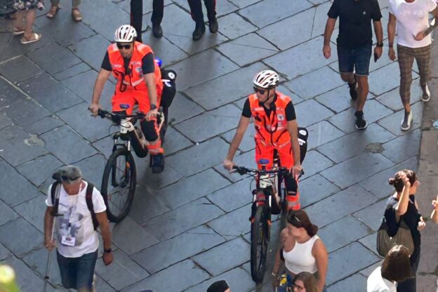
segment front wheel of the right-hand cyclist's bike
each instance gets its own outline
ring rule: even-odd
[[[251,277],[257,283],[263,281],[269,241],[266,206],[258,206],[251,225]]]

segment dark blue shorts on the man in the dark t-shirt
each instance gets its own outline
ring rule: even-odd
[[[338,46],[339,72],[355,72],[359,76],[368,76],[371,51],[371,45],[361,48],[342,48]]]

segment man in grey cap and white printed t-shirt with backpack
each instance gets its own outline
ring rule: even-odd
[[[100,192],[82,179],[77,166],[63,166],[53,174],[48,187],[44,216],[44,245],[57,247],[62,286],[79,292],[94,291],[93,274],[98,259],[100,226],[105,265],[112,263],[111,232],[105,202]],[[53,190],[52,190],[53,189]],[[53,237],[55,216],[58,220]]]

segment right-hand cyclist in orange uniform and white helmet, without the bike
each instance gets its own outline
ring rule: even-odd
[[[300,145],[298,143],[298,125],[295,109],[290,97],[275,91],[279,75],[272,70],[264,70],[253,79],[255,93],[248,96],[240,117],[239,126],[232,139],[227,158],[223,165],[232,170],[232,161],[240,145],[246,128],[253,117],[255,126],[255,161],[258,169],[260,159],[268,159],[267,170],[272,168],[274,150],[277,150],[281,166],[290,169],[286,175],[286,201],[288,209],[299,209],[300,200],[296,178],[301,172]]]

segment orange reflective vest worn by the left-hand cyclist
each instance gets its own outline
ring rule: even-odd
[[[147,93],[147,86],[143,79],[142,58],[148,53],[154,53],[150,46],[135,41],[134,52],[128,65],[131,69],[131,73],[126,74],[124,59],[119,52],[119,48],[117,48],[117,44],[112,44],[108,47],[108,56],[110,57],[112,74],[117,79],[115,94],[123,93],[128,87],[132,87],[130,89],[135,89],[136,91],[145,91]],[[157,86],[163,88],[161,71],[157,62],[155,62],[155,81]]]

